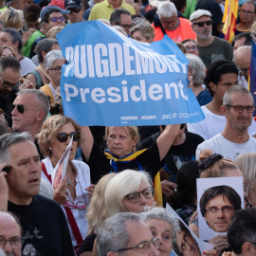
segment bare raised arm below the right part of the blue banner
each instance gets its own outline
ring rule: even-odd
[[[166,125],[162,134],[156,139],[160,160],[162,160],[170,150],[174,143],[174,138],[179,132],[179,129],[180,123]]]

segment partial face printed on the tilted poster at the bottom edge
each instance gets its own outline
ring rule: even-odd
[[[176,244],[178,250],[183,254],[183,256],[200,256],[200,249],[192,237],[187,232],[180,230],[176,233]]]

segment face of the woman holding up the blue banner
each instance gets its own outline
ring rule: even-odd
[[[107,146],[111,154],[118,157],[131,154],[136,146],[137,137],[132,138],[122,126],[109,127],[107,135]]]

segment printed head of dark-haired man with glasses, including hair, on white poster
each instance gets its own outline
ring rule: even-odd
[[[210,229],[227,232],[235,210],[241,209],[241,197],[229,186],[208,189],[200,198],[200,211]]]

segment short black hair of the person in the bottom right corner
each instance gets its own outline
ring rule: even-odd
[[[228,242],[231,250],[241,254],[245,243],[253,243],[256,247],[256,209],[238,210],[228,230]]]

